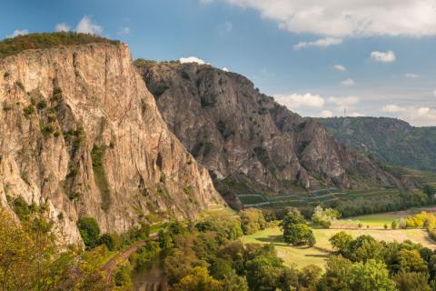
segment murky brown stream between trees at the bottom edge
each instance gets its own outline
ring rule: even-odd
[[[155,256],[148,264],[132,273],[135,291],[167,291],[166,277],[163,273],[164,255]]]

